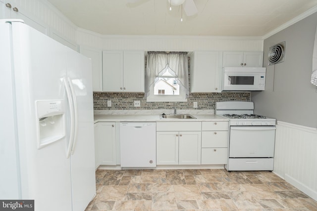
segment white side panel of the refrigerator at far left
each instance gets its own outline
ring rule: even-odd
[[[10,24],[0,24],[0,199],[20,197]]]

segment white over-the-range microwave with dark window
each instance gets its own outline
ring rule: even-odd
[[[222,90],[264,90],[265,72],[265,67],[224,67],[222,68]]]

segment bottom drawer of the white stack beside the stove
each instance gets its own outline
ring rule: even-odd
[[[227,164],[227,148],[202,148],[202,164]]]

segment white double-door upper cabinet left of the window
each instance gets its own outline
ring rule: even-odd
[[[103,91],[144,92],[144,51],[103,51]]]

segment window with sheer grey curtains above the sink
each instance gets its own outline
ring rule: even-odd
[[[149,52],[146,70],[147,101],[187,101],[186,52]]]

